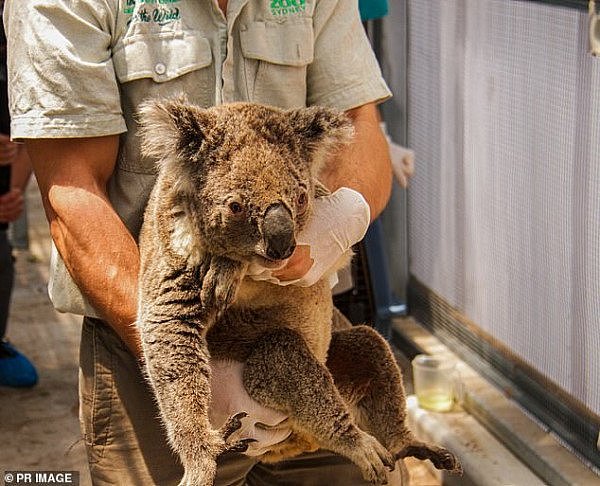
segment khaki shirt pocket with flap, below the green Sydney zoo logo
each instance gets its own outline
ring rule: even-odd
[[[240,43],[251,101],[282,108],[306,105],[306,71],[314,55],[310,18],[247,24]]]

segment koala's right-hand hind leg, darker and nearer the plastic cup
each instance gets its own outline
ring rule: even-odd
[[[456,457],[418,441],[406,425],[402,374],[388,343],[368,326],[332,335],[327,358],[340,394],[355,411],[358,425],[372,433],[397,459],[429,459],[438,469],[460,472]]]

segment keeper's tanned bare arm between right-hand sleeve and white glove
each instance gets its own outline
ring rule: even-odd
[[[354,140],[327,164],[320,178],[332,191],[345,186],[360,192],[373,220],[383,211],[391,193],[389,147],[374,104],[349,110],[348,115],[354,124]]]

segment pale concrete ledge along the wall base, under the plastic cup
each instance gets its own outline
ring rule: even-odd
[[[452,354],[411,318],[398,319],[393,327],[416,349]],[[452,450],[463,462],[465,475],[444,475],[444,484],[600,485],[597,471],[565,448],[502,390],[456,359],[463,391],[461,406],[449,413],[435,413],[419,408],[416,397],[408,400],[415,433]],[[486,363],[482,361],[481,366]],[[411,376],[405,379],[411,390]]]

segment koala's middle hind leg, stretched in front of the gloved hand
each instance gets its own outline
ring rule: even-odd
[[[367,481],[387,482],[393,457],[354,424],[329,371],[296,332],[281,329],[256,343],[244,386],[257,402],[288,414],[321,447],[353,461]]]

